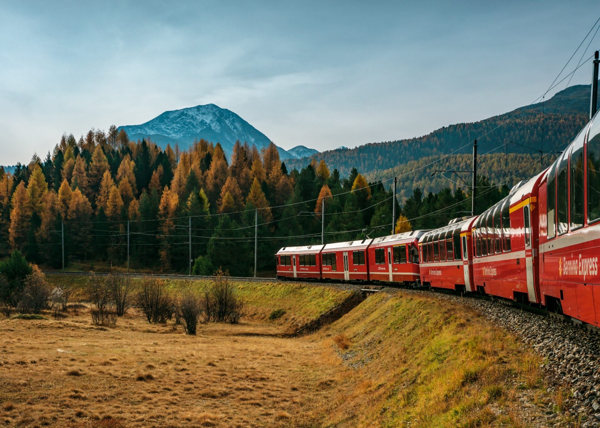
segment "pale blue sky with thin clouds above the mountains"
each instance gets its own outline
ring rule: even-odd
[[[598,17],[597,0],[4,0],[0,164],[208,103],[284,149],[415,137],[531,103]]]

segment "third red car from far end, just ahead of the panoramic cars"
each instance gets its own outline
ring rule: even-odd
[[[419,282],[419,238],[422,230],[382,236],[368,247],[369,279],[377,282]]]

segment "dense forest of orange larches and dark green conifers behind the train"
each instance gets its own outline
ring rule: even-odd
[[[467,186],[412,187],[400,206],[391,176],[369,182],[351,168],[343,177],[314,158],[288,170],[275,144],[237,141],[230,159],[206,140],[163,150],[115,126],[64,134],[44,159],[0,173],[2,257],[19,249],[42,269],[61,269],[64,248],[67,270],[129,258],[145,272],[188,273],[191,264],[199,275],[251,275],[256,233],[258,270],[272,272],[282,246],[321,242],[321,221],[325,242],[339,242],[390,234],[392,202],[396,231],[447,224],[471,205]],[[479,212],[509,192],[483,176],[478,188]]]

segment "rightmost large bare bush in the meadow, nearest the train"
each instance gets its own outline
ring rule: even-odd
[[[202,304],[205,321],[228,321],[237,324],[244,316],[245,302],[238,296],[238,289],[229,281],[229,273],[219,269],[215,279],[206,289]]]

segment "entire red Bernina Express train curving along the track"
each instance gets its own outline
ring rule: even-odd
[[[436,230],[299,248],[277,253],[278,278],[420,283],[536,305],[598,326],[600,114],[553,165],[479,216]],[[300,270],[298,254],[315,265]]]

